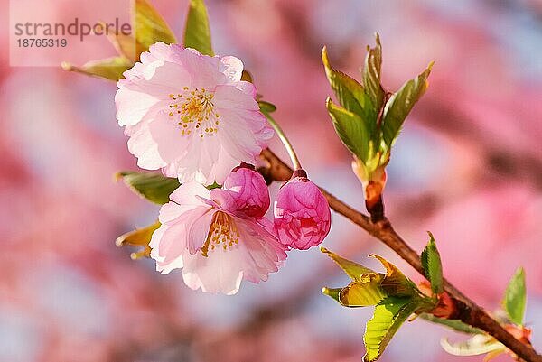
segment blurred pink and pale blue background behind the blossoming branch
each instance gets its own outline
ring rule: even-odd
[[[153,3],[181,38],[187,1]],[[392,153],[388,218],[418,250],[431,230],[444,273],[490,310],[523,265],[526,319],[542,349],[542,3],[207,3],[215,51],[245,62],[313,181],[359,209],[360,184],[324,107],[331,89],[322,46],[357,75],[379,32],[389,90],[435,60]],[[77,14],[62,9],[70,11]],[[114,55],[105,39],[103,47]],[[370,310],[322,296],[322,286],[348,278],[316,249],[290,253],[267,283],[244,283],[232,297],[193,292],[180,273],[130,260],[115,238],[151,223],[158,208],[113,181],[135,169],[115,119],[115,84],[10,68],[8,56],[0,52],[0,361],[360,361]],[[277,142],[272,148],[285,156]],[[420,280],[337,215],[323,245],[370,266],[367,255],[384,255]],[[443,336],[462,338],[424,320],[406,323],[381,360],[481,361],[446,355]]]

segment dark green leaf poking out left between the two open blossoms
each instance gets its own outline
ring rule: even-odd
[[[156,172],[118,172],[117,180],[121,178],[136,194],[159,205],[167,203],[173,190],[181,186],[177,179]]]

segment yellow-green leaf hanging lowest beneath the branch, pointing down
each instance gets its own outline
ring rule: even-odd
[[[399,327],[416,311],[415,299],[388,297],[375,307],[373,317],[367,322],[363,341],[367,353],[365,362],[376,361],[388,347]]]

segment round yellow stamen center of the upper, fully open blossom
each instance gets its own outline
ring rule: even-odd
[[[170,94],[169,116],[181,127],[181,135],[214,135],[219,131],[220,115],[214,111],[214,94],[205,88],[182,88]]]

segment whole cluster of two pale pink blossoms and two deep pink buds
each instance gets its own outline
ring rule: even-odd
[[[303,170],[266,218],[269,192],[252,164],[274,132],[242,72],[235,57],[158,42],[118,82],[118,124],[138,166],[182,183],[160,210],[151,257],[164,274],[182,268],[184,282],[204,292],[266,281],[286,251],[319,245],[331,227],[327,200]]]

